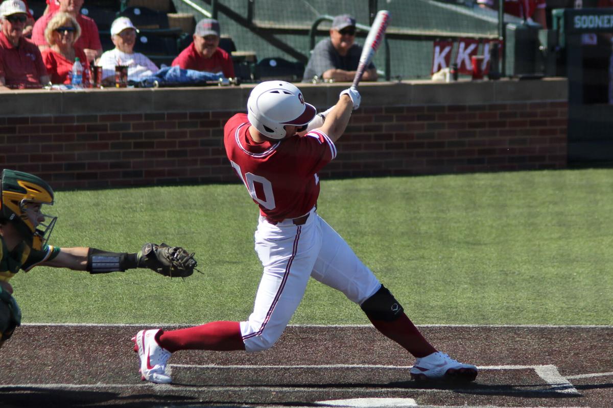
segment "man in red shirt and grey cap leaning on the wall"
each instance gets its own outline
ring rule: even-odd
[[[203,18],[196,24],[194,41],[172,61],[182,69],[206,72],[223,72],[226,78],[234,78],[234,63],[226,51],[219,48],[219,22]]]

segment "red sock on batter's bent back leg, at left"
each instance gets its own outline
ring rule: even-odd
[[[210,322],[170,332],[161,330],[156,340],[171,353],[178,350],[245,350],[238,322]]]

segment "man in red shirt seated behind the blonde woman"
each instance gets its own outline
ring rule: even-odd
[[[96,22],[89,17],[81,14],[80,10],[83,6],[84,0],[59,0],[59,9],[55,12],[48,12],[34,24],[34,31],[32,32],[32,42],[39,46],[40,51],[48,48],[49,44],[45,39],[45,28],[47,24],[53,18],[55,13],[63,12],[69,13],[77,20],[78,25],[81,27],[81,37],[75,43],[79,48],[85,52],[87,61],[94,61],[102,54],[102,44],[100,43],[100,35],[98,34],[98,27]]]

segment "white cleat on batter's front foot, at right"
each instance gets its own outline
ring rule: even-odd
[[[409,373],[413,380],[474,381],[477,377],[477,368],[470,364],[459,363],[449,355],[437,351],[417,358]]]

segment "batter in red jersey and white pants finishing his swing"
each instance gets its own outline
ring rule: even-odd
[[[381,333],[417,357],[412,377],[475,379],[475,366],[453,360],[424,339],[400,303],[317,213],[317,173],[336,157],[335,142],[360,98],[355,89],[346,89],[335,106],[316,115],[297,87],[267,81],[251,91],[248,114],[236,114],[226,123],[227,157],[259,207],[255,249],[264,273],[253,313],[243,322],[141,330],[133,340],[143,380],[171,382],[166,364],[178,350],[272,347],[311,277],[343,292]]]

